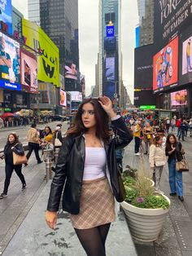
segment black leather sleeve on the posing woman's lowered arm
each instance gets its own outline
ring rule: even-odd
[[[72,140],[66,137],[59,150],[58,162],[55,167],[55,176],[50,185],[50,196],[48,200],[47,210],[56,212],[59,210],[59,202],[63,192],[63,186],[66,179],[67,158],[70,153]]]

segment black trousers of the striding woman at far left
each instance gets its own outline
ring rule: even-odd
[[[22,174],[22,172],[21,172],[21,168],[22,168],[22,165],[14,166],[14,165],[6,164],[6,179],[5,179],[5,183],[4,183],[4,189],[3,189],[4,194],[7,194],[7,192],[8,192],[8,188],[9,188],[13,170],[15,170],[15,173],[20,178],[21,183],[23,185],[26,184],[26,182],[24,180],[24,174]]]

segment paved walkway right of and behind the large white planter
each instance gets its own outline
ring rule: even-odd
[[[183,173],[185,201],[182,203],[177,196],[169,196],[168,166],[166,165],[160,182],[160,189],[171,200],[170,212],[157,241],[147,244],[134,241],[139,256],[192,255],[192,139],[187,137],[181,143],[185,148],[185,157],[190,165],[190,172]],[[134,156],[133,147],[134,143],[131,143],[124,152],[124,166],[129,165],[149,174],[148,156]]]

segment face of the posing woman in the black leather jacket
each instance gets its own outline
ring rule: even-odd
[[[96,126],[94,106],[92,104],[86,103],[83,105],[81,118],[85,128],[89,129]]]

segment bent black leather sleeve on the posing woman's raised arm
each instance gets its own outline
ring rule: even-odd
[[[111,123],[116,130],[116,138],[114,138],[116,139],[116,148],[124,148],[132,141],[132,132],[127,128],[122,117],[111,121]]]

